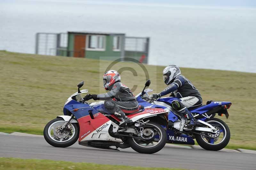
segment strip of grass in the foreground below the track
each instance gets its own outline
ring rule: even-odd
[[[173,168],[148,168],[138,166],[102,165],[93,163],[74,163],[68,161],[53,161],[47,159],[20,159],[20,158],[0,158],[0,169],[53,169],[53,170],[181,170]]]

